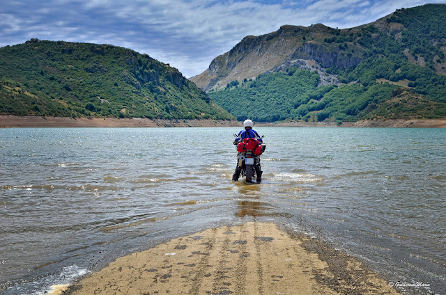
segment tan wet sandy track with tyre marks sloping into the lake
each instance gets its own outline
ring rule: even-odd
[[[62,294],[399,293],[326,244],[274,223],[245,223],[120,257]]]

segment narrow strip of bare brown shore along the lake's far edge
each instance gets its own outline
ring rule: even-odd
[[[148,118],[70,118],[34,115],[0,115],[0,128],[42,127],[240,127],[235,120],[187,120]],[[446,128],[446,119],[363,120],[358,122],[257,122],[256,127],[412,127]]]

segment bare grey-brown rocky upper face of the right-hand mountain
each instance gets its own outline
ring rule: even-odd
[[[292,65],[309,70],[357,65],[362,61],[360,54],[344,56],[338,47],[324,44],[324,38],[339,34],[339,31],[323,24],[283,25],[272,33],[248,35],[230,51],[217,56],[207,70],[191,80],[203,90],[210,90]]]

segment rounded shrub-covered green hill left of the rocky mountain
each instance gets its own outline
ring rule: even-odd
[[[233,118],[174,67],[147,54],[36,39],[0,48],[0,114]]]

